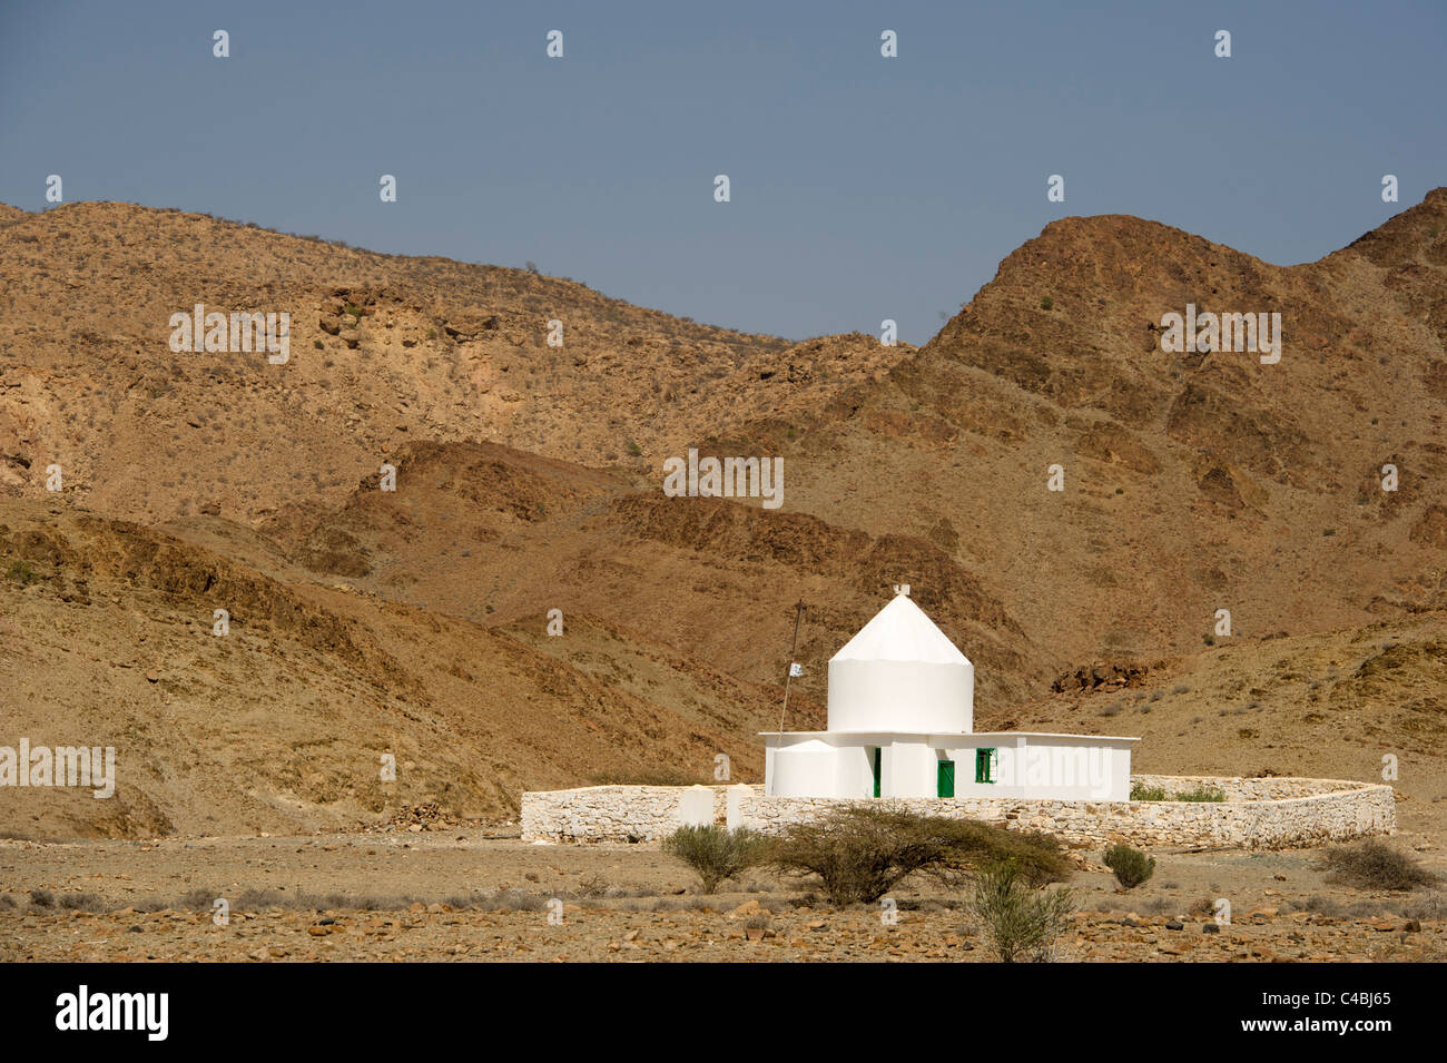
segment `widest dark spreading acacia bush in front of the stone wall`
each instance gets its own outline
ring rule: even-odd
[[[768,856],[784,872],[818,875],[835,904],[874,902],[916,871],[958,885],[972,868],[1001,859],[1013,859],[1032,885],[1069,875],[1069,862],[1049,834],[871,806],[845,806],[789,824]]]

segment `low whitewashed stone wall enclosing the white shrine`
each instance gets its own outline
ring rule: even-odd
[[[860,804],[930,816],[978,819],[1011,830],[1043,830],[1068,845],[1130,842],[1145,846],[1283,849],[1343,842],[1396,830],[1392,788],[1375,782],[1308,778],[1133,775],[1166,794],[1215,785],[1226,801],[1091,801],[998,797],[874,798]],[[582,787],[522,794],[522,840],[657,842],[683,820],[690,787]],[[765,797],[760,785],[713,785],[713,821],[777,833],[839,801]],[[732,791],[732,793],[731,793]],[[734,814],[729,814],[729,804]],[[695,798],[699,800],[699,798]]]

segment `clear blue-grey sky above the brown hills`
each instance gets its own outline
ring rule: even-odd
[[[923,343],[1066,214],[1276,263],[1350,243],[1447,184],[1444,42],[1441,0],[4,0],[0,200],[41,210],[59,174],[68,201],[532,260],[790,338],[888,317]]]

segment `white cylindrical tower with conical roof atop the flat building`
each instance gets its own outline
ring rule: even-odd
[[[907,593],[829,659],[829,730],[968,733],[974,703],[975,667]]]

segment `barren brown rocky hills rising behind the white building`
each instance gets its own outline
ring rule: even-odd
[[[1140,733],[1147,771],[1365,778],[1395,752],[1430,807],[1444,270],[1447,189],[1294,268],[1066,218],[915,350],[175,211],[6,208],[0,743],[116,745],[120,781],[13,791],[0,830],[506,816],[716,752],[757,778],[794,603],[787,725],[822,726],[825,662],[899,581],[975,661],[983,725]],[[174,353],[198,302],[289,312],[289,360]],[[1281,360],[1165,353],[1187,304],[1279,312]],[[783,506],[664,496],[690,445],[781,456]]]

